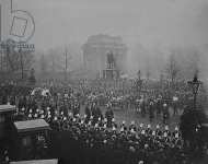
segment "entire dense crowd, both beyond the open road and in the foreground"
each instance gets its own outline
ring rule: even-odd
[[[167,126],[169,107],[177,115],[184,106],[182,94],[166,99],[155,92],[126,96],[99,87],[95,91],[83,86],[34,90],[14,83],[1,84],[0,92],[0,104],[16,105],[16,120],[42,118],[50,125],[54,136],[49,147],[56,152],[51,154],[63,163],[188,163],[178,127],[171,131]],[[101,93],[103,96],[99,96]],[[113,108],[120,103],[122,108],[134,108],[141,117],[149,115],[150,122],[154,117],[161,118],[161,125],[117,122]],[[101,109],[103,105],[107,108],[105,114]],[[84,116],[80,114],[81,106]]]

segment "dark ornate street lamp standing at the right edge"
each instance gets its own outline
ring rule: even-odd
[[[187,83],[193,89],[194,109],[196,110],[196,97],[197,97],[197,94],[198,94],[199,86],[200,86],[200,84],[203,84],[203,82],[198,80],[197,73],[195,73],[193,81],[188,81]]]

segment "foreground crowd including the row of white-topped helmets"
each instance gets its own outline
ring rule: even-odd
[[[60,142],[62,142],[61,147],[66,145],[60,150],[68,152],[67,156],[62,155],[66,152],[59,152],[59,149],[56,151],[56,153],[59,152],[58,156],[63,157],[63,161],[95,163],[100,160],[99,163],[161,164],[187,162],[177,127],[174,131],[170,131],[169,126],[165,126],[164,129],[159,125],[154,128],[143,124],[137,127],[134,121],[129,126],[125,121],[119,125],[111,115],[113,113],[111,109],[106,113],[105,118],[99,117],[97,119],[96,115],[88,118],[86,115],[84,117],[72,113],[66,115],[63,112],[58,113],[57,110],[53,114],[50,107],[35,112],[28,110],[28,113],[22,108],[21,113],[27,116],[26,119],[45,119],[59,134],[60,132],[68,133],[67,140],[61,138],[56,147],[56,149],[60,148],[58,147]],[[119,154],[117,157],[113,155],[116,152]],[[111,155],[113,156],[109,157]],[[171,162],[170,157],[172,157]],[[83,159],[84,161],[80,161]]]

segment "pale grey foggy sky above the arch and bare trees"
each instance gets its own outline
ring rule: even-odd
[[[174,51],[181,69],[188,71],[197,54],[200,78],[208,79],[207,0],[13,0],[13,8],[35,19],[30,40],[41,54],[65,45],[81,47],[89,36],[122,36],[128,46],[127,72],[140,69],[152,78],[164,70]],[[78,46],[79,45],[79,46]],[[61,48],[62,49],[62,48]],[[77,48],[76,48],[77,49]],[[81,49],[71,56],[81,61]],[[79,54],[79,57],[78,57]],[[74,60],[76,62],[78,60]],[[72,61],[72,63],[74,63]],[[73,68],[81,67],[77,62]]]

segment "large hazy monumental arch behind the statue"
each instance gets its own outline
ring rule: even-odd
[[[82,46],[84,69],[90,78],[106,78],[108,55],[113,55],[114,70],[126,71],[127,46],[119,36],[93,35]],[[108,74],[108,73],[107,73]]]

